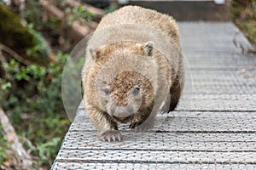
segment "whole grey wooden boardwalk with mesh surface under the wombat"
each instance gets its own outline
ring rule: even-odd
[[[256,56],[236,48],[230,22],[179,28],[188,63],[177,111],[145,133],[122,126],[125,141],[109,144],[81,105],[52,169],[256,169]]]

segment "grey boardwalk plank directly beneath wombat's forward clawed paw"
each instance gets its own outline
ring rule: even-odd
[[[92,136],[96,136],[96,130],[88,130],[88,133],[81,131],[82,133],[79,133],[78,131],[70,131],[67,133],[67,137],[65,139],[65,143],[69,142],[70,139],[72,139],[73,141],[71,142],[72,144],[74,142],[77,142],[79,144],[79,146],[82,146],[83,142],[89,142],[93,141],[93,139],[90,139],[90,137]],[[93,143],[90,143],[88,145],[88,147],[98,147],[98,148],[106,148],[106,147],[110,147],[110,149],[112,148],[126,148],[127,145],[131,145],[133,144],[133,142],[136,142],[138,144],[134,145],[133,147],[131,147],[131,149],[133,148],[137,148],[140,147],[139,145],[147,145],[145,143],[145,141],[151,141],[151,143],[148,143],[149,145],[154,145],[156,144],[155,142],[159,142],[162,144],[164,143],[163,140],[167,141],[166,145],[172,144],[173,143],[185,143],[188,142],[190,144],[195,143],[214,143],[214,142],[219,142],[219,143],[226,143],[226,142],[236,142],[236,143],[250,143],[250,142],[256,142],[256,135],[253,133],[207,133],[207,132],[203,132],[203,133],[194,133],[194,132],[189,132],[189,133],[166,133],[166,132],[144,132],[144,133],[136,133],[136,132],[129,132],[129,131],[125,131],[122,130],[122,133],[124,133],[125,135],[127,135],[128,139],[127,141],[125,141],[123,144],[119,144],[119,143],[113,143],[113,144],[108,144],[108,143],[104,143],[101,141],[95,141]],[[131,140],[128,137],[132,137],[132,139],[136,139],[136,140]],[[79,141],[74,141],[75,139],[78,139]],[[63,145],[64,146],[64,145]],[[67,146],[67,145],[65,145]],[[85,146],[84,146],[85,147]],[[163,147],[163,146],[162,146]],[[206,146],[205,146],[206,147]],[[226,147],[230,147],[230,145],[227,145]],[[254,148],[253,150],[255,150],[255,144],[254,144]],[[154,148],[154,150],[157,150],[158,148]],[[167,150],[168,148],[166,148]],[[213,150],[218,150],[218,148],[213,148]]]

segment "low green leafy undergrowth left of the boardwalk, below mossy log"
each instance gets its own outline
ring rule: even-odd
[[[21,65],[15,59],[1,65],[5,71],[1,87],[5,96],[0,98],[3,110],[17,133],[32,142],[32,146],[25,144],[26,149],[38,157],[39,166],[52,164],[69,125],[61,101],[62,68],[67,54],[57,56],[58,64],[50,63],[49,67]]]

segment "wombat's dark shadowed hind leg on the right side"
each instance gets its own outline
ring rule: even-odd
[[[180,81],[177,77],[175,79],[175,81],[173,82],[172,87],[170,89],[171,103],[170,103],[169,111],[174,111],[174,109],[177,106],[178,100],[180,99],[180,96],[181,96],[181,91],[182,91],[181,86],[182,86],[182,84],[180,83]]]

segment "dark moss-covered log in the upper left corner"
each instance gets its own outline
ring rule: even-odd
[[[23,26],[19,15],[0,4],[0,42],[27,60],[49,63],[49,47],[44,38],[31,27]]]

